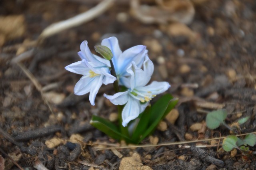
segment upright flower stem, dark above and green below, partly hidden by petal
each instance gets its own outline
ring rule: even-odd
[[[116,93],[120,92],[119,90],[119,86],[118,86],[118,80],[117,80],[117,76],[116,76],[116,70],[114,68],[114,64],[112,62],[112,60],[110,60],[110,65],[111,65],[111,70],[110,73],[116,77],[116,81],[114,81],[113,85],[114,85],[114,90]],[[123,106],[121,105],[117,105],[118,108],[118,122],[119,122],[119,127],[120,127],[120,131],[122,134],[126,135],[129,137],[129,133],[128,133],[128,128],[122,126],[122,110],[123,110]]]

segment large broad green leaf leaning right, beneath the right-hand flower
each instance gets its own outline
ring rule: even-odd
[[[162,96],[150,109],[149,126],[146,131],[140,136],[140,140],[136,143],[140,143],[146,136],[151,134],[159,122],[164,118],[164,115],[168,114],[172,108],[177,104],[178,99],[173,98],[172,95],[166,94]]]

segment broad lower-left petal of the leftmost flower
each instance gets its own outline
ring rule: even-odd
[[[94,78],[82,76],[82,78],[76,83],[74,87],[74,94],[84,95],[90,92]]]

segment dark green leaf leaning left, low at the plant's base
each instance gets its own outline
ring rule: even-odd
[[[115,124],[113,124],[112,122],[104,118],[93,115],[92,120],[90,121],[90,124],[95,128],[97,128],[98,130],[104,132],[106,135],[108,135],[113,139],[116,139],[116,140],[124,139],[126,140],[126,142],[134,143],[130,138],[121,134],[119,132],[118,127]]]

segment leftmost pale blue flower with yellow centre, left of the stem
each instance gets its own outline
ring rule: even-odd
[[[76,83],[74,94],[83,95],[90,92],[90,103],[95,105],[95,97],[102,84],[113,83],[116,78],[110,74],[110,62],[92,54],[87,41],[81,43],[80,50],[78,55],[82,60],[66,66],[65,69],[84,75]]]

